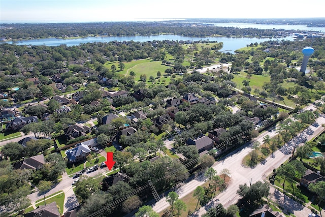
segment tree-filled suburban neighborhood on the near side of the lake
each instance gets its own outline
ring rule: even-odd
[[[325,216],[324,44],[2,43],[0,215]]]

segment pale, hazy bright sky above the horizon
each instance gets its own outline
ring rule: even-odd
[[[311,4],[309,4],[311,3]],[[325,17],[324,0],[0,0],[0,22]]]

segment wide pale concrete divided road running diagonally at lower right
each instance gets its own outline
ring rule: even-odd
[[[321,127],[323,123],[325,123],[325,118],[323,117],[318,117],[316,119],[316,122],[318,125],[315,126],[310,126],[308,129],[305,130],[301,135],[298,135],[295,139],[291,140],[294,142],[291,142],[291,145],[294,144],[299,144],[300,142],[303,142],[303,140],[306,138],[307,140],[311,140],[312,138],[316,137],[319,135],[324,128]],[[310,135],[308,135],[308,134]],[[263,143],[263,138],[265,135],[270,135],[273,137],[276,135],[275,131],[272,132],[265,132],[261,134],[259,137],[256,138],[257,141]],[[302,143],[301,143],[302,144]],[[274,168],[278,168],[282,163],[284,163],[290,156],[291,152],[293,150],[292,146],[289,146],[286,144],[283,146],[283,148],[277,150],[275,152],[275,157],[271,158],[268,157],[266,159],[266,162],[264,164],[258,164],[255,168],[247,168],[242,166],[242,160],[243,158],[251,151],[251,147],[247,146],[241,151],[234,152],[228,154],[228,157],[224,159],[224,162],[222,161],[216,162],[213,166],[213,168],[219,173],[222,169],[226,168],[229,169],[231,172],[231,183],[229,184],[228,188],[223,191],[221,194],[216,196],[215,200],[213,202],[219,202],[221,203],[224,207],[228,207],[231,204],[234,204],[237,202],[237,200],[240,198],[239,195],[237,195],[237,190],[238,186],[240,184],[250,184],[254,183],[258,180],[264,180],[267,179],[269,174],[271,174],[272,170]],[[194,179],[186,184],[184,184],[179,190],[177,190],[177,193],[179,194],[180,198],[183,198],[187,194],[191,193],[194,191],[194,189],[197,188],[198,185],[201,185],[204,183],[204,180]],[[212,202],[212,203],[213,203]],[[211,204],[210,204],[211,205]],[[283,204],[285,205],[285,204]],[[161,212],[165,210],[169,206],[169,203],[166,202],[166,198],[162,198],[159,200],[154,206],[153,210],[156,212]],[[197,211],[196,215],[201,216],[204,214],[207,209],[210,207],[202,207],[200,210]],[[300,210],[293,210],[296,216],[305,216],[305,215],[300,215],[299,213],[296,214],[296,212],[299,212]],[[325,214],[325,212],[324,212]]]

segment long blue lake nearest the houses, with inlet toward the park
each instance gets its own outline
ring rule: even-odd
[[[293,41],[293,37],[277,38],[273,40],[290,40]],[[21,40],[14,42],[17,45],[47,45],[47,46],[58,46],[61,44],[66,44],[67,46],[79,45],[80,43],[88,42],[110,42],[110,41],[162,41],[162,40],[209,40],[223,42],[223,48],[221,51],[227,51],[234,53],[235,50],[246,47],[250,43],[260,43],[264,41],[271,40],[271,38],[227,38],[227,37],[185,37],[178,35],[152,35],[152,36],[112,36],[112,37],[85,37],[78,39],[59,39],[59,38],[47,38],[47,39],[33,39],[33,40]],[[3,42],[2,42],[3,43]],[[13,42],[7,42],[12,44]]]

